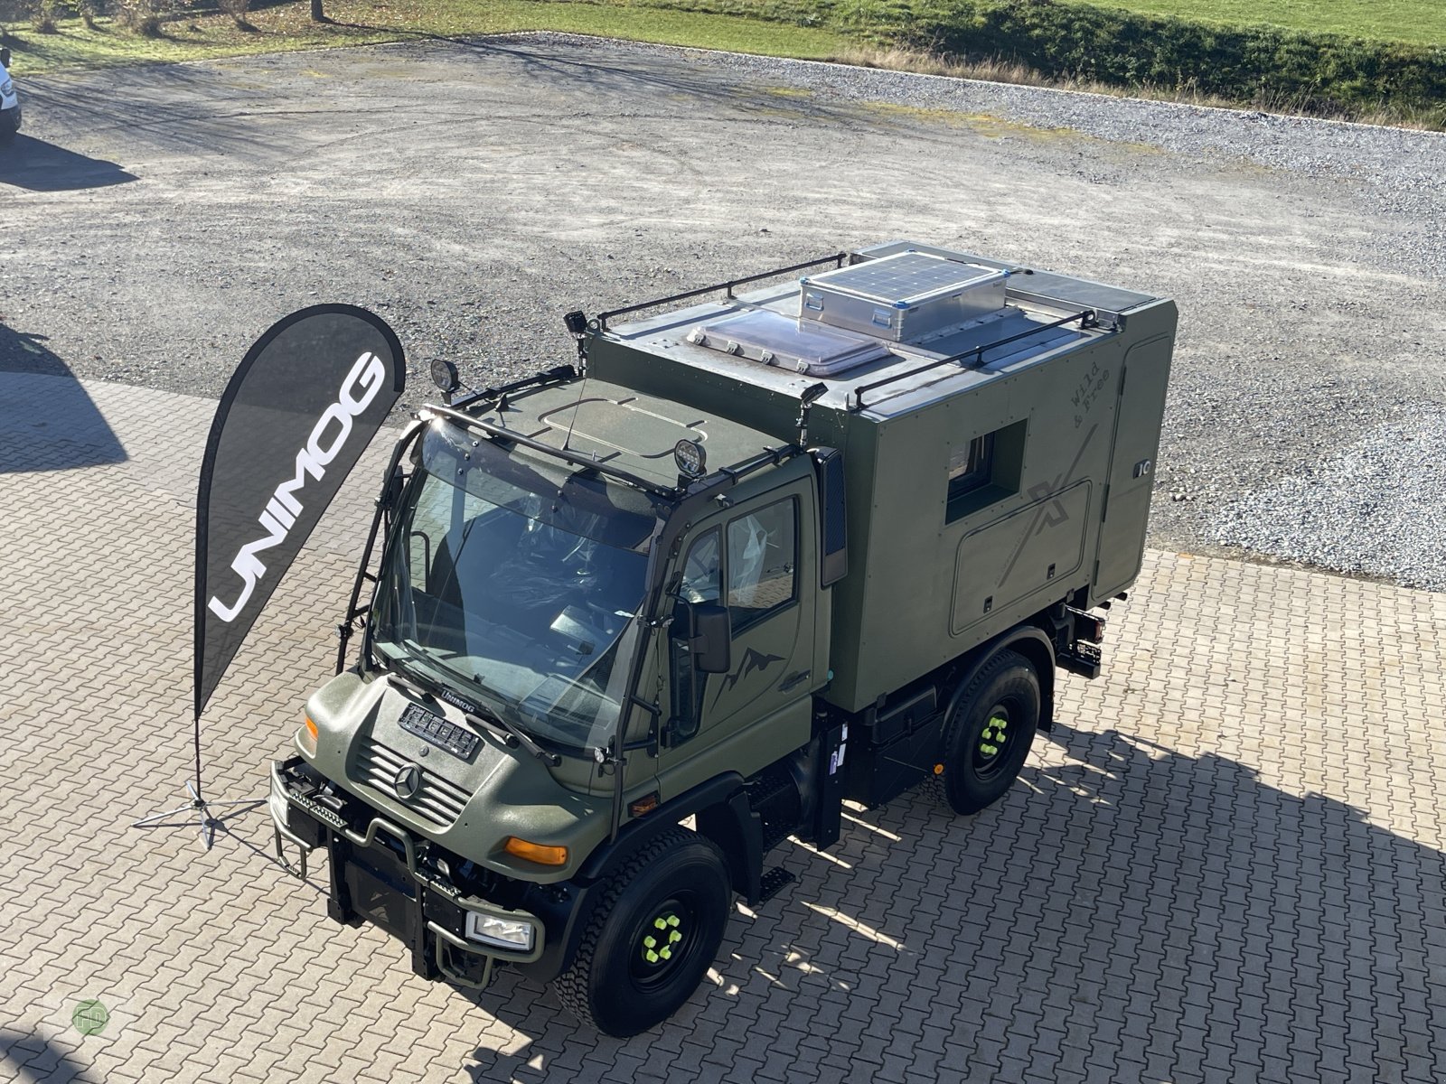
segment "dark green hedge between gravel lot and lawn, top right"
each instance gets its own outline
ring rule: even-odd
[[[915,0],[910,7],[897,27],[914,45],[975,61],[1008,59],[1051,77],[1317,110],[1446,114],[1442,48],[1212,26],[1053,0]]]

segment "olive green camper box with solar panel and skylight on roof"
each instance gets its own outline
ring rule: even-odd
[[[843,452],[849,575],[823,697],[859,711],[1057,600],[1134,582],[1176,306],[904,241],[852,259],[604,318],[589,371],[779,444],[804,389],[827,387],[808,436]]]

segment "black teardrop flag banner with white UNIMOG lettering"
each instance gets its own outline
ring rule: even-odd
[[[405,379],[396,334],[353,305],[294,312],[247,351],[195,502],[197,717]]]

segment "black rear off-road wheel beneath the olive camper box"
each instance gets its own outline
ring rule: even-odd
[[[956,814],[992,805],[1019,776],[1040,704],[1040,675],[1018,652],[999,652],[969,682],[944,724],[944,772],[936,776]]]

